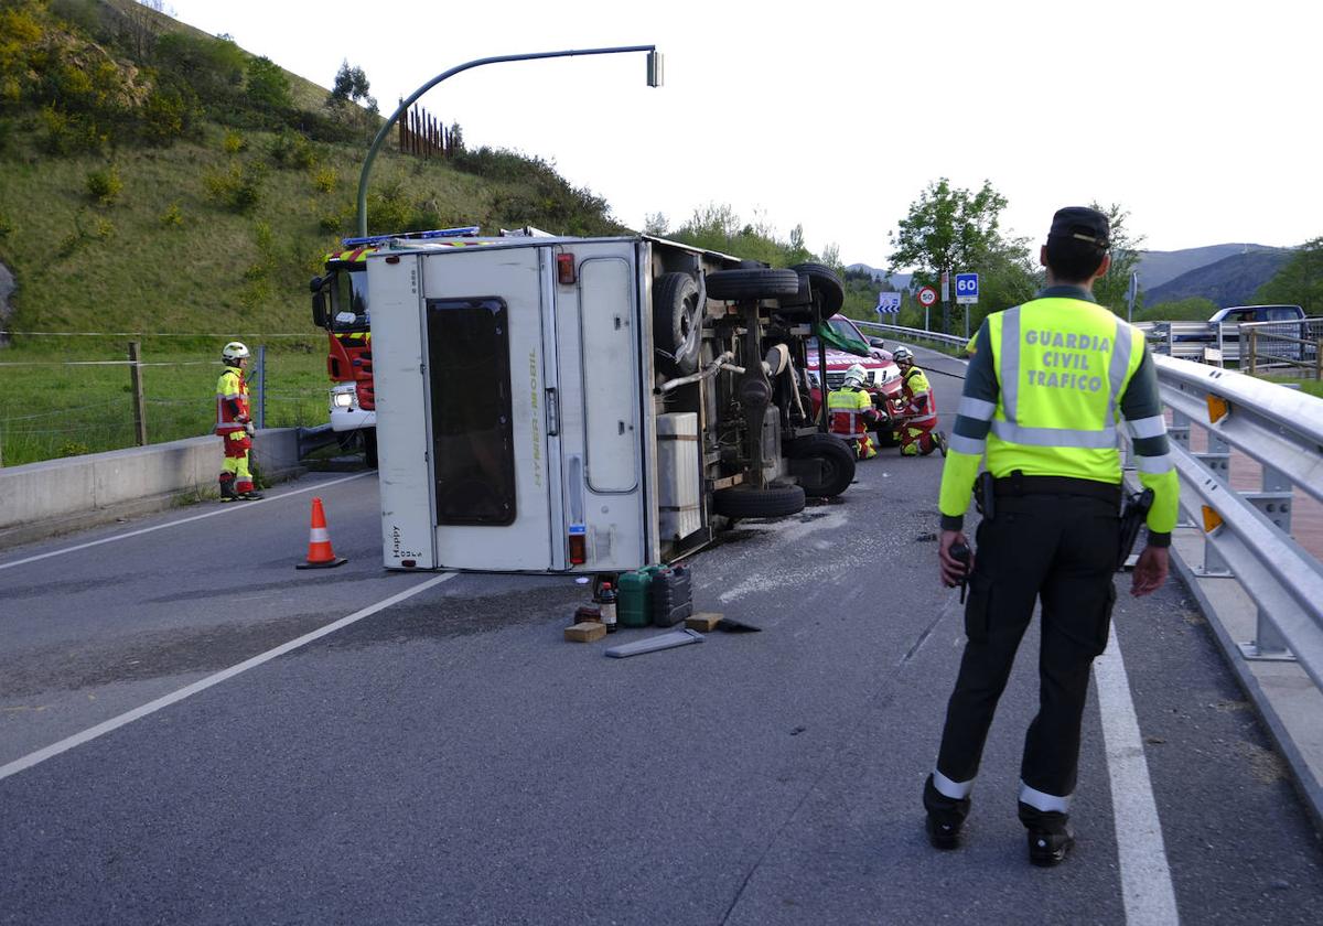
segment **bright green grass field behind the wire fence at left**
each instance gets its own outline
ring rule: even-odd
[[[249,345],[255,348],[258,343]],[[302,347],[286,344],[266,353],[267,427],[311,427],[327,421],[324,347],[316,344],[320,352],[311,343]],[[136,439],[127,358],[122,341],[0,352],[0,462],[20,466],[132,447]],[[212,352],[157,347],[148,340],[142,360],[148,443],[209,434],[221,373],[218,358]],[[101,365],[75,365],[78,361]],[[255,377],[250,370],[253,388]]]

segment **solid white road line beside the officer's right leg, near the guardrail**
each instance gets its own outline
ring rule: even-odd
[[[1117,821],[1117,859],[1127,926],[1179,923],[1176,893],[1167,866],[1167,847],[1158,820],[1148,762],[1139,738],[1139,721],[1130,697],[1130,680],[1121,659],[1117,628],[1107,650],[1093,663],[1102,712],[1102,738],[1111,779],[1111,808]]]

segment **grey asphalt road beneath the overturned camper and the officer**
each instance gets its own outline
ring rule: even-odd
[[[8,550],[0,922],[1139,923],[1164,892],[1187,923],[1316,915],[1318,835],[1179,582],[1121,595],[1066,864],[1032,868],[1015,815],[1033,630],[968,843],[929,848],[962,643],[939,471],[888,450],[839,504],[742,523],[691,561],[696,606],[763,632],[627,660],[562,640],[573,581],[381,570],[370,472]],[[294,569],[314,495],[336,570]]]

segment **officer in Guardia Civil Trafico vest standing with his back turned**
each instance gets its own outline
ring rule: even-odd
[[[1143,333],[1093,300],[1093,283],[1111,263],[1109,233],[1094,209],[1058,210],[1040,251],[1046,288],[990,315],[976,336],[942,471],[946,585],[966,574],[951,550],[966,544],[964,511],[984,454],[994,478],[984,483],[984,515],[988,501],[992,511],[979,524],[967,642],[937,767],[923,786],[937,848],[960,844],[988,725],[1036,599],[1039,714],[1024,738],[1019,815],[1033,864],[1056,865],[1074,844],[1069,810],[1089,667],[1107,644],[1117,595],[1122,417],[1139,480],[1155,496],[1131,594],[1155,591],[1167,578],[1177,487],[1154,361]]]

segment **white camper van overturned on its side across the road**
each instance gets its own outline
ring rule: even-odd
[[[393,238],[361,263],[318,298],[348,312],[366,280],[388,569],[615,574],[853,480],[807,377],[843,300],[820,265],[651,235]]]

